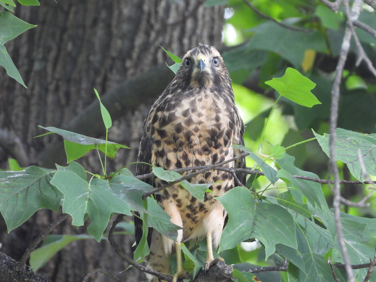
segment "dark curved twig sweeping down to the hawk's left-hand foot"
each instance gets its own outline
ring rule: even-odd
[[[115,252],[122,258],[124,259],[126,262],[128,262],[130,265],[133,265],[135,268],[141,270],[141,271],[144,271],[144,272],[147,272],[149,274],[152,274],[152,275],[155,275],[163,280],[166,280],[168,282],[172,282],[172,276],[169,275],[169,274],[164,274],[164,273],[160,273],[158,271],[155,271],[149,267],[146,267],[142,264],[139,264],[135,261],[133,261],[133,259],[131,258],[128,258],[125,253],[120,249],[119,245],[116,244],[115,242],[115,239],[114,239],[114,231],[115,231],[115,228],[117,226],[117,224],[123,220],[123,217],[124,217],[124,214],[119,214],[118,217],[116,218],[116,220],[112,223],[112,226],[111,226],[111,229],[110,231],[108,232],[108,241],[110,241],[110,244],[112,247],[114,247],[115,249]]]

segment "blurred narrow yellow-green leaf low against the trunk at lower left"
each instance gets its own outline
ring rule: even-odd
[[[38,271],[45,265],[59,250],[76,240],[93,239],[92,236],[80,235],[49,235],[45,238],[43,245],[33,250],[30,254],[30,267]]]

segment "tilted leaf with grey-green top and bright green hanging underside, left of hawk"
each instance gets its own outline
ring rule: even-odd
[[[67,162],[73,161],[85,155],[85,153],[89,152],[90,150],[98,148],[103,153],[106,152],[106,143],[107,143],[107,156],[111,159],[115,158],[117,151],[120,148],[129,149],[129,147],[117,144],[111,141],[106,141],[102,139],[92,138],[89,136],[85,136],[82,134],[74,133],[68,130],[59,129],[56,127],[43,127],[38,125],[39,127],[49,130],[50,132],[55,132],[61,135],[64,138],[64,147],[65,153],[67,154]],[[41,137],[49,133],[45,133],[42,135],[38,135],[36,137]],[[76,143],[76,144],[72,144]]]

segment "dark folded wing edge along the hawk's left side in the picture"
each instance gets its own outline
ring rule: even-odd
[[[146,118],[146,121],[148,120],[148,118],[149,117]],[[145,123],[146,123],[146,121],[145,121]],[[146,127],[144,126],[143,136],[142,136],[142,139],[141,139],[140,149],[139,149],[139,153],[138,153],[138,162],[146,162],[146,163],[150,164],[150,162],[152,160],[152,140],[150,139],[150,134],[148,132],[146,132],[145,128]],[[137,164],[136,175],[142,175],[142,174],[146,174],[146,173],[150,173],[150,172],[152,172],[152,166],[151,165]],[[143,181],[150,184],[150,185],[153,185],[154,177],[149,177],[149,178],[147,178]],[[143,235],[143,231],[142,231],[143,221],[139,217],[140,217],[140,214],[138,212],[135,212],[135,216],[133,218],[134,218],[134,222],[135,222],[135,238],[136,238],[136,244],[137,245],[141,241],[141,238],[142,238],[142,235]],[[147,243],[148,243],[149,247],[150,247],[150,243],[152,241],[152,232],[153,232],[153,228],[149,227],[149,231],[148,231],[148,234],[147,234]]]

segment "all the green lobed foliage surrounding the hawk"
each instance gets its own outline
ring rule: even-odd
[[[18,2],[24,5],[27,1]],[[34,2],[37,1],[28,3]],[[222,54],[246,123],[246,147],[241,149],[248,155],[249,178],[246,187],[233,188],[218,198],[229,221],[217,253],[227,264],[234,264],[233,275],[239,281],[253,279],[255,274],[250,272],[256,267],[254,264],[270,262],[284,269],[280,277],[265,277],[262,281],[351,280],[343,267],[346,260],[341,243],[352,265],[369,263],[376,247],[376,210],[374,205],[367,205],[374,203],[375,197],[363,199],[368,190],[367,185],[361,184],[371,183],[371,177],[376,176],[376,71],[368,63],[372,65],[375,58],[375,35],[359,27],[354,29],[359,22],[376,29],[375,11],[365,4],[356,10],[356,5],[362,5],[357,1],[351,7],[343,1],[337,8],[334,2],[324,0],[252,4],[208,0],[204,5],[218,2],[228,6],[224,41],[232,46]],[[10,11],[12,3],[0,2]],[[23,84],[4,43],[33,26],[10,12],[2,12],[0,25],[7,27],[0,29],[0,64],[9,76]],[[354,32],[352,41],[347,42],[350,28]],[[351,43],[349,53],[344,53],[346,42]],[[178,57],[169,55],[180,64]],[[340,55],[347,58],[342,68],[338,67]],[[176,65],[171,69],[176,71]],[[340,81],[335,80],[338,71]],[[340,93],[338,109],[333,108],[336,87]],[[111,118],[100,105],[107,132]],[[338,119],[334,120],[338,120],[338,128],[334,132],[329,120],[337,114]],[[114,158],[118,149],[126,146],[55,127],[42,128],[64,138],[69,165],[47,170],[35,166],[17,168],[12,164],[9,171],[0,171],[0,211],[8,231],[23,224],[38,209],[57,211],[62,206],[74,226],[82,226],[89,218],[91,225],[87,231],[97,241],[106,237],[103,232],[114,213],[130,215],[131,211],[138,211],[144,222],[167,237],[176,238],[179,227],[170,223],[152,197],[143,197],[154,189],[142,181],[147,176],[135,177],[126,167],[107,173],[106,156]],[[322,180],[332,179],[327,156],[331,156],[333,147],[332,161],[338,161],[342,179],[344,171],[349,170],[351,177],[346,180],[358,181],[351,182],[358,186],[352,187],[350,199],[340,198],[344,204],[340,220],[334,216],[331,191],[338,182],[327,185]],[[90,150],[98,152],[102,175],[85,171],[74,161]],[[104,158],[100,151],[105,153]],[[153,168],[153,173],[167,182],[180,182],[197,199],[203,199],[210,186],[193,185],[176,171]],[[336,223],[341,226],[340,237]],[[149,252],[147,225],[144,226],[135,260]],[[132,229],[129,224],[122,227]],[[48,237],[41,248],[32,252],[30,265],[38,270],[66,244],[91,236]],[[250,243],[242,242],[254,239],[257,241],[252,244],[258,244],[256,250],[246,251],[245,245]],[[191,242],[182,251],[185,268],[194,276],[205,260],[205,244]],[[328,264],[328,258],[333,264]],[[367,271],[368,267],[362,267],[353,270],[353,275],[361,281],[366,279]],[[376,281],[376,276],[367,279]]]

